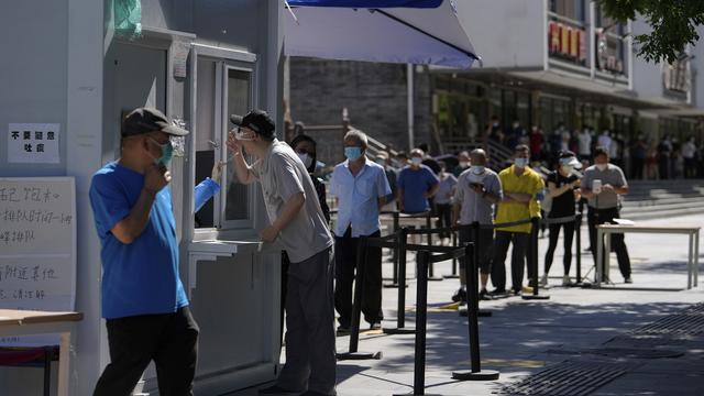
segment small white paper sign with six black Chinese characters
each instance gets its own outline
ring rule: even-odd
[[[57,123],[11,123],[8,128],[8,162],[14,164],[58,164]]]

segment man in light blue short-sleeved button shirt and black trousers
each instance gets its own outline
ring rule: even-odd
[[[369,161],[366,135],[352,130],[344,135],[345,162],[338,164],[330,178],[330,194],[338,199],[336,223],[334,307],[340,314],[339,332],[346,332],[352,320],[352,283],[360,237],[381,235],[380,208],[392,193],[384,167]],[[362,312],[371,329],[381,329],[382,249],[366,250]],[[358,268],[359,270],[359,268]]]

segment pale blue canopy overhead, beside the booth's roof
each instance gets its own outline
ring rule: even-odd
[[[453,0],[289,0],[286,55],[470,68]],[[295,15],[295,16],[294,16]]]

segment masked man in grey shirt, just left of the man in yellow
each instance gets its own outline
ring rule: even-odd
[[[454,193],[454,210],[453,223],[460,226],[470,226],[473,222],[480,224],[494,223],[494,206],[502,200],[504,193],[502,190],[502,182],[498,175],[486,167],[486,153],[484,150],[476,148],[470,153],[472,166],[460,174]],[[476,246],[480,250],[480,266],[482,289],[480,298],[491,299],[486,292],[486,283],[492,273],[492,245],[494,243],[494,230],[481,229],[480,243]],[[468,227],[460,228],[460,243],[476,242],[476,235],[473,235]],[[472,274],[470,274],[472,275]],[[466,268],[464,262],[460,262],[460,290],[453,297],[457,300],[466,300]],[[463,298],[464,297],[464,298]]]

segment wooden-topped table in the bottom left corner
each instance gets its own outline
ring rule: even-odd
[[[80,312],[0,309],[0,337],[59,333],[57,396],[68,396],[70,332],[82,318]]]

